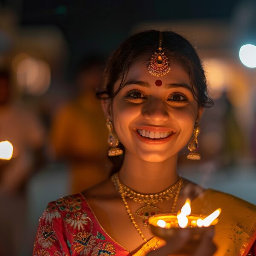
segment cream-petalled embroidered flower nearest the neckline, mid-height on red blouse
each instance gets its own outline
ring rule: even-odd
[[[84,225],[88,223],[86,212],[68,212],[64,220],[70,227],[78,231],[84,231]]]

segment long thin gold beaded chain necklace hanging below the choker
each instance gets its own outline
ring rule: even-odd
[[[122,201],[123,201],[123,203],[124,203],[124,205],[125,205],[125,210],[126,210],[128,216],[129,216],[130,220],[131,220],[131,223],[134,225],[135,229],[138,231],[138,233],[139,233],[139,235],[141,236],[141,238],[146,242],[146,244],[148,245],[149,250],[155,250],[155,249],[157,248],[158,244],[160,243],[160,241],[157,240],[157,241],[156,241],[156,244],[154,245],[154,247],[151,247],[151,246],[150,246],[150,244],[148,243],[148,240],[145,238],[145,236],[144,236],[143,233],[141,232],[141,230],[140,230],[138,224],[134,221],[134,216],[132,215],[131,210],[130,210],[130,208],[129,208],[129,206],[128,206],[128,203],[127,203],[127,201],[126,201],[126,199],[125,199],[125,192],[124,192],[122,186],[117,186],[117,183],[116,183],[116,175],[118,175],[118,174],[112,175],[112,176],[111,176],[111,180],[113,181],[113,183],[114,183],[116,189],[117,189],[118,192],[119,192],[119,195],[120,195],[121,198],[122,198]],[[117,176],[117,177],[118,177],[118,176]],[[118,180],[119,180],[119,179],[118,179]],[[120,181],[120,182],[121,182],[121,181]],[[180,194],[180,189],[181,189],[182,184],[183,184],[183,180],[182,180],[182,178],[179,177],[178,188],[177,188],[177,192],[176,192],[176,195],[175,195],[175,198],[174,198],[174,202],[173,202],[173,204],[172,204],[171,212],[174,211],[175,206],[176,206],[176,204],[177,204],[177,200],[178,200],[178,197],[179,197],[179,194]],[[127,188],[127,187],[126,187],[126,188]],[[126,190],[127,190],[127,189],[126,189]]]

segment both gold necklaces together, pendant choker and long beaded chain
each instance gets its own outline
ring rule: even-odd
[[[122,201],[125,205],[125,210],[128,213],[128,216],[131,220],[131,223],[134,225],[134,227],[136,228],[136,230],[138,231],[138,233],[140,234],[140,236],[142,237],[142,239],[146,242],[146,244],[148,245],[150,250],[155,250],[155,248],[157,247],[159,241],[157,241],[157,243],[155,244],[154,247],[151,247],[148,244],[147,239],[145,238],[145,236],[143,235],[143,233],[141,232],[138,224],[134,221],[134,216],[131,213],[131,210],[128,206],[128,203],[126,201],[125,198],[130,198],[135,202],[138,203],[144,203],[145,206],[137,209],[136,211],[136,215],[139,216],[140,218],[143,218],[143,224],[144,226],[148,227],[148,218],[155,215],[155,214],[159,214],[162,213],[160,211],[160,209],[158,207],[155,207],[154,204],[156,204],[157,202],[162,202],[164,200],[169,200],[171,198],[174,198],[170,213],[174,212],[175,206],[177,204],[177,200],[180,194],[180,189],[182,187],[183,184],[183,179],[181,177],[178,178],[177,182],[175,184],[173,184],[172,186],[170,186],[169,188],[165,189],[164,191],[157,193],[157,194],[152,194],[152,195],[148,195],[148,194],[141,194],[138,192],[133,191],[131,188],[125,186],[121,180],[119,179],[118,173],[115,173],[111,176],[111,180],[114,183],[114,186],[116,187],[117,191],[119,192]]]

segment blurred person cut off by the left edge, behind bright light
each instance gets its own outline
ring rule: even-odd
[[[12,97],[9,71],[0,72],[0,141],[13,145],[0,160],[0,255],[20,255],[26,219],[26,183],[35,170],[45,132],[35,113]]]

